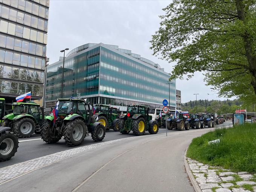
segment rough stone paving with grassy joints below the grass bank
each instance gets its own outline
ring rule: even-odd
[[[190,158],[187,162],[202,192],[256,192],[256,174],[231,172]]]

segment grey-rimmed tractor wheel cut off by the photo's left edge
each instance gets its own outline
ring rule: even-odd
[[[9,131],[0,133],[0,162],[11,159],[18,149],[18,138]]]

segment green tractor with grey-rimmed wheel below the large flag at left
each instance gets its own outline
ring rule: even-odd
[[[15,102],[12,104],[13,113],[3,117],[3,126],[11,127],[17,137],[30,137],[40,133],[44,120],[44,108],[35,103]]]

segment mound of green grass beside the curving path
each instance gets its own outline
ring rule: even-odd
[[[208,145],[211,140],[219,143]],[[232,171],[256,173],[256,123],[215,129],[192,140],[187,157]]]

